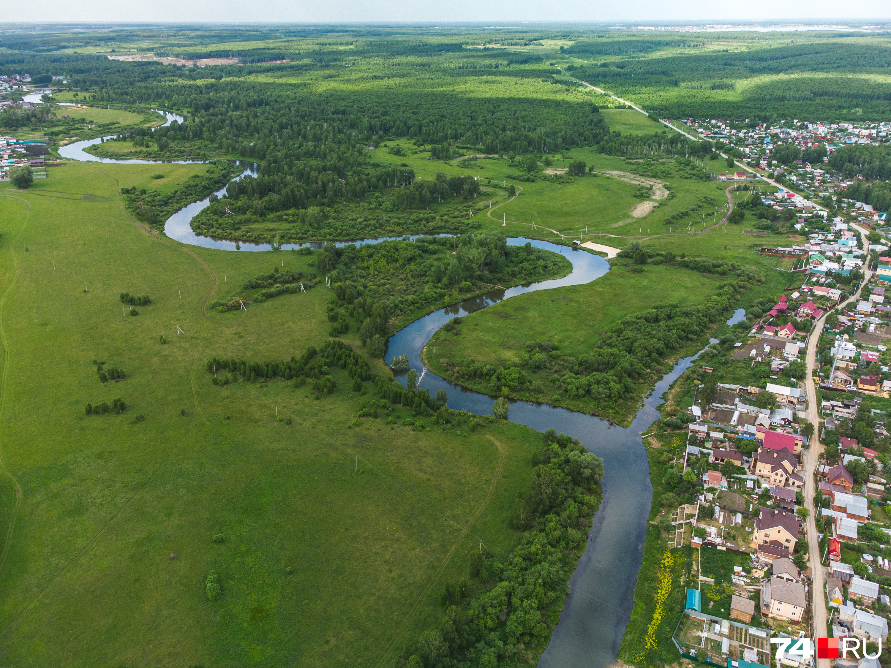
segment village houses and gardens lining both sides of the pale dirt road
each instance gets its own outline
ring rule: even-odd
[[[879,239],[871,239],[868,249],[858,248],[858,239],[836,221],[830,232],[810,235],[806,245],[779,249],[805,258],[803,282],[775,302],[749,308],[736,340],[722,339],[715,354],[694,366],[692,396],[670,411],[669,424],[676,428],[679,421],[684,431],[683,438],[675,437],[680,445],[674,453],[663,456],[677,470],[666,479],[701,490],[695,502],[665,512],[672,527],[668,547],[689,545],[698,553],[673,636],[686,659],[771,666],[772,638],[814,634],[858,638],[871,652],[879,640],[887,643],[891,257],[882,255],[887,246]],[[867,251],[879,257],[882,271],[859,300],[837,308],[856,289]],[[832,280],[852,274],[853,288]],[[822,331],[813,330],[827,311]],[[803,383],[805,346],[814,336],[825,449],[815,479],[805,481],[803,458],[817,429],[805,417]],[[811,589],[805,489],[815,490],[821,591]],[[830,629],[813,629],[812,596],[825,597]],[[785,656],[781,663],[804,666],[810,660]],[[839,659],[837,665],[879,668],[869,658]]]

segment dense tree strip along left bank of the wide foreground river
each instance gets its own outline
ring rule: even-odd
[[[562,599],[584,549],[590,517],[601,501],[603,463],[578,439],[548,429],[527,492],[515,502],[511,524],[523,531],[504,562],[485,553],[470,559],[470,577],[491,589],[463,602],[462,582],[446,590],[446,615],[421,633],[409,666],[443,666],[461,657],[471,665],[526,662],[525,648],[551,635],[547,610]],[[453,605],[454,601],[454,605]]]

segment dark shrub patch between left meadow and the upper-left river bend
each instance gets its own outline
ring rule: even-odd
[[[143,223],[163,227],[168,217],[193,201],[201,200],[222,188],[240,169],[224,160],[208,165],[204,175],[194,174],[169,192],[145,188],[121,188],[127,209]]]

